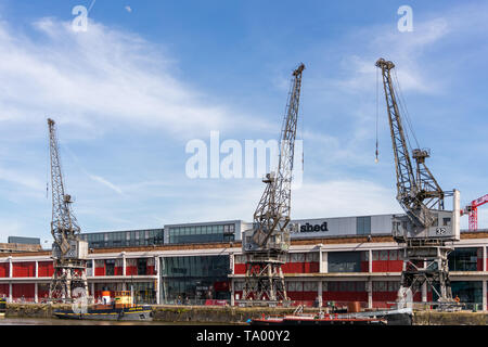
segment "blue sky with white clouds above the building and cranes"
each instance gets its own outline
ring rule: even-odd
[[[293,219],[401,213],[378,57],[464,206],[488,193],[487,53],[485,1],[0,0],[0,242],[51,243],[48,117],[82,232],[252,221],[261,176],[191,178],[187,146],[278,139],[301,62]]]

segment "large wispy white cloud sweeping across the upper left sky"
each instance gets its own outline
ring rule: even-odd
[[[52,115],[86,129],[125,123],[179,136],[252,124],[179,81],[175,63],[139,36],[93,21],[82,33],[54,18],[34,27],[40,37],[30,39],[0,24],[0,120]]]

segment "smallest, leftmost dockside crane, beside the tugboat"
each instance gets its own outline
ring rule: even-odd
[[[88,295],[86,274],[88,244],[79,239],[80,228],[72,210],[72,196],[65,194],[64,191],[60,145],[54,120],[48,119],[48,126],[52,191],[51,234],[54,239],[52,244],[54,271],[49,288],[49,298],[69,303],[74,299],[73,293],[76,288],[80,288],[77,290],[77,295],[82,295],[82,293]]]

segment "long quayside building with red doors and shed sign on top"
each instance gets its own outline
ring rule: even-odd
[[[390,235],[391,216],[294,220],[296,231],[283,266],[291,299],[308,306],[351,300],[363,307],[393,305],[403,259]],[[188,299],[192,304],[226,300],[235,305],[245,277],[241,235],[251,227],[232,220],[170,224],[157,232],[84,234],[89,242],[92,237],[89,294],[98,298],[103,290],[132,290],[140,303]],[[158,242],[150,242],[152,237]],[[487,246],[488,230],[463,231],[449,256],[453,295],[485,310]],[[49,293],[52,271],[49,252],[0,254],[0,296],[41,301]],[[425,285],[414,296],[419,303],[435,299],[436,294]]]

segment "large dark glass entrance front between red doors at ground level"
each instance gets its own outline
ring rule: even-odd
[[[229,256],[162,258],[162,303],[204,304],[229,299]]]

